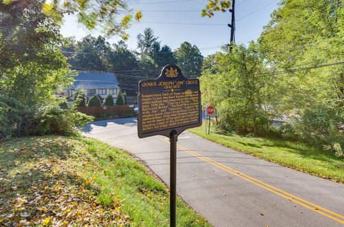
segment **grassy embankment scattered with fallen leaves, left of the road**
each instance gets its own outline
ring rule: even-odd
[[[178,199],[178,226],[210,226]],[[144,166],[90,138],[0,144],[0,226],[168,226],[169,193]]]

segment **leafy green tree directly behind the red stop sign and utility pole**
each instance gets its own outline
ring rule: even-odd
[[[235,46],[232,52],[217,55],[215,61],[200,77],[204,104],[217,109],[225,129],[255,135],[264,132],[268,127],[265,79],[258,76],[264,72],[264,58],[257,45]]]

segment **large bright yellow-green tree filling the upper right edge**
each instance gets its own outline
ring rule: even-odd
[[[269,76],[275,82],[270,95],[278,97],[271,109],[294,116],[295,131],[308,140],[338,140],[341,135],[344,66],[316,68],[342,61],[341,5],[332,0],[282,1],[259,37],[270,67],[286,72]]]

